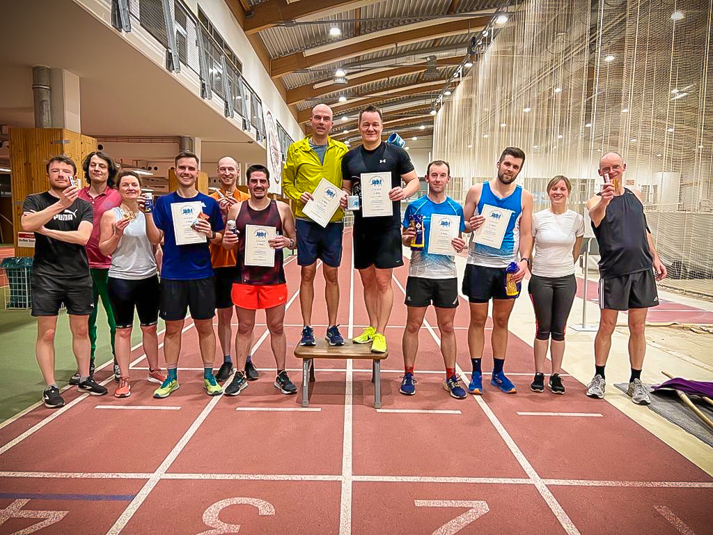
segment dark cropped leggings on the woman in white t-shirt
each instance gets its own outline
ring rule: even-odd
[[[565,340],[567,318],[572,310],[572,303],[577,292],[577,280],[574,275],[565,277],[538,277],[533,275],[528,285],[530,299],[535,308],[538,340]]]

